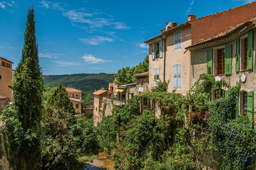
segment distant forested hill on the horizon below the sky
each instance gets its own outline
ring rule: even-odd
[[[69,75],[44,75],[46,87],[63,86],[80,89],[82,91],[94,91],[95,89],[108,89],[108,83],[113,82],[113,73],[76,73]]]

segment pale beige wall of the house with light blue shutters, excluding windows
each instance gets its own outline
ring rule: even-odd
[[[178,31],[181,30],[181,49],[174,50],[174,33],[169,33],[164,38],[166,38],[166,68],[165,68],[165,81],[170,81],[168,84],[168,91],[173,91],[173,65],[181,63],[182,65],[182,80],[181,80],[181,89],[177,89],[176,93],[181,93],[182,95],[186,95],[186,91],[189,90],[189,73],[190,73],[190,52],[187,51],[185,47],[191,45],[191,27],[186,26],[182,27]],[[154,42],[158,42],[161,38],[158,38]],[[163,81],[164,77],[164,52],[163,58],[158,58],[152,60],[152,43],[149,45],[149,60],[148,60],[148,89],[152,89],[154,87],[154,68],[160,68],[160,80]],[[163,51],[165,51],[165,45],[163,41]]]

